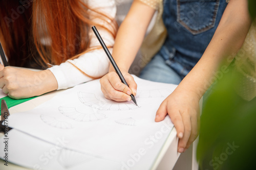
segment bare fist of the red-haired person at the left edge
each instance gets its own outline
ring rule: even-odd
[[[0,88],[11,98],[23,99],[56,90],[58,84],[50,70],[5,67],[0,71]]]

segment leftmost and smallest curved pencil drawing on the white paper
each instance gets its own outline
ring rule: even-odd
[[[65,121],[58,120],[53,116],[48,116],[48,115],[41,114],[40,118],[44,123],[46,123],[47,125],[50,125],[52,127],[55,127],[55,128],[59,128],[59,129],[72,129],[72,128],[74,128],[72,124],[70,124],[68,122],[65,122]]]

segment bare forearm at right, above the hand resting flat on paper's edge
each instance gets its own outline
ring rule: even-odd
[[[183,79],[178,89],[185,88],[200,99],[216,80],[216,71],[220,64],[223,64],[224,72],[227,71],[227,66],[240,50],[250,27],[247,8],[246,0],[230,1],[202,58]]]

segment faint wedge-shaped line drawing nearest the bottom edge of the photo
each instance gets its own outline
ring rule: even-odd
[[[68,149],[60,150],[57,158],[59,164],[67,169],[82,163],[87,163],[93,159],[96,158],[94,156],[82,154]]]

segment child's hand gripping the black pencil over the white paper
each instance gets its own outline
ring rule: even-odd
[[[124,102],[132,100],[131,94],[136,95],[137,84],[134,78],[125,71],[122,71],[122,75],[130,88],[121,82],[114,71],[109,72],[100,79],[101,91],[106,99]]]

